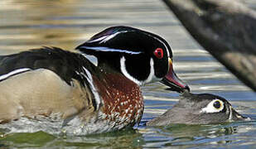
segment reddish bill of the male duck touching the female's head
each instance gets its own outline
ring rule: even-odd
[[[190,91],[190,88],[187,84],[183,83],[181,79],[177,77],[173,68],[172,68],[172,61],[169,58],[169,70],[167,75],[160,81],[162,84],[167,85],[170,87],[168,90],[176,91],[178,93],[183,93],[186,90]]]

